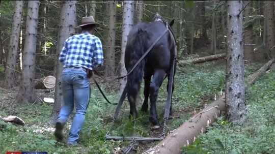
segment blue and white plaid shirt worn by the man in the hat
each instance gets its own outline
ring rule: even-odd
[[[103,64],[102,44],[88,32],[69,37],[59,56],[64,67],[74,66],[93,70]]]

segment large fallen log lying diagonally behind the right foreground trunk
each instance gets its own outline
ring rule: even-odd
[[[271,66],[274,59],[269,60],[257,72],[251,74],[247,85],[251,85]],[[196,137],[202,134],[208,126],[216,121],[217,117],[226,110],[225,95],[222,95],[218,100],[209,104],[198,114],[184,122],[178,129],[170,133],[166,138],[159,142],[156,146],[143,152],[143,154],[178,154],[181,153],[181,147],[188,146],[196,140]]]

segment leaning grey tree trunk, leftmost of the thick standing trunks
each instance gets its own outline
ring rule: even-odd
[[[6,63],[5,83],[7,88],[16,85],[16,60],[19,44],[19,32],[22,19],[23,1],[16,1],[15,11],[13,15],[12,34],[9,45],[8,58]],[[3,54],[4,56],[4,54]]]

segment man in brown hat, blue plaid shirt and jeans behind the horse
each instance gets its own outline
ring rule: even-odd
[[[102,44],[99,38],[93,35],[98,25],[92,16],[82,18],[81,34],[69,37],[60,53],[59,60],[63,64],[62,91],[64,106],[62,106],[57,123],[56,136],[58,141],[63,140],[63,128],[71,114],[75,103],[75,115],[67,143],[77,144],[79,132],[85,121],[85,113],[90,99],[89,78],[92,70],[103,63]]]

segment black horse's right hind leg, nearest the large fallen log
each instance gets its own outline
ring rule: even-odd
[[[154,128],[159,128],[159,122],[157,118],[156,100],[158,96],[158,90],[163,82],[163,78],[166,72],[164,70],[157,70],[154,73],[153,81],[150,84],[150,118],[149,120],[154,125]]]

